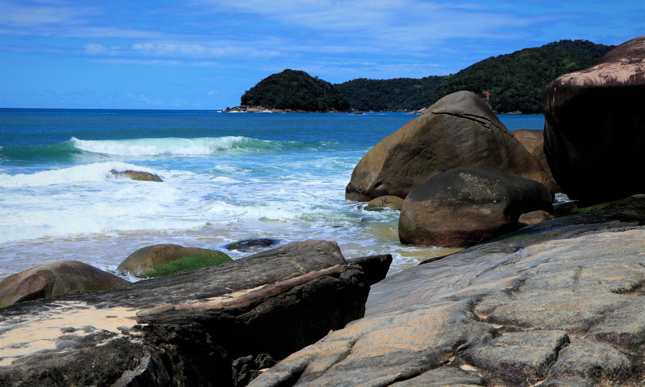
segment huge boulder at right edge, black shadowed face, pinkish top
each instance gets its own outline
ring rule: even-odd
[[[544,88],[544,152],[571,199],[645,193],[644,57],[645,37],[638,37]]]

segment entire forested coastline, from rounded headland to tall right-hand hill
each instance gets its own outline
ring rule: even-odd
[[[615,46],[561,40],[479,61],[456,74],[421,79],[366,79],[331,84],[304,71],[269,75],[233,111],[413,112],[460,90],[473,92],[497,114],[541,114],[544,86],[562,74],[593,66]]]

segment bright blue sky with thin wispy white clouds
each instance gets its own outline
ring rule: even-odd
[[[0,107],[221,109],[285,68],[419,78],[641,35],[645,0],[0,0]]]

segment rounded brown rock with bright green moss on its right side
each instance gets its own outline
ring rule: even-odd
[[[167,277],[228,261],[231,257],[217,250],[155,244],[130,254],[117,270],[138,278]]]

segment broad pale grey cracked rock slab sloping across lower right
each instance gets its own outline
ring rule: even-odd
[[[250,386],[643,386],[644,210],[553,219],[394,273],[366,317]]]

